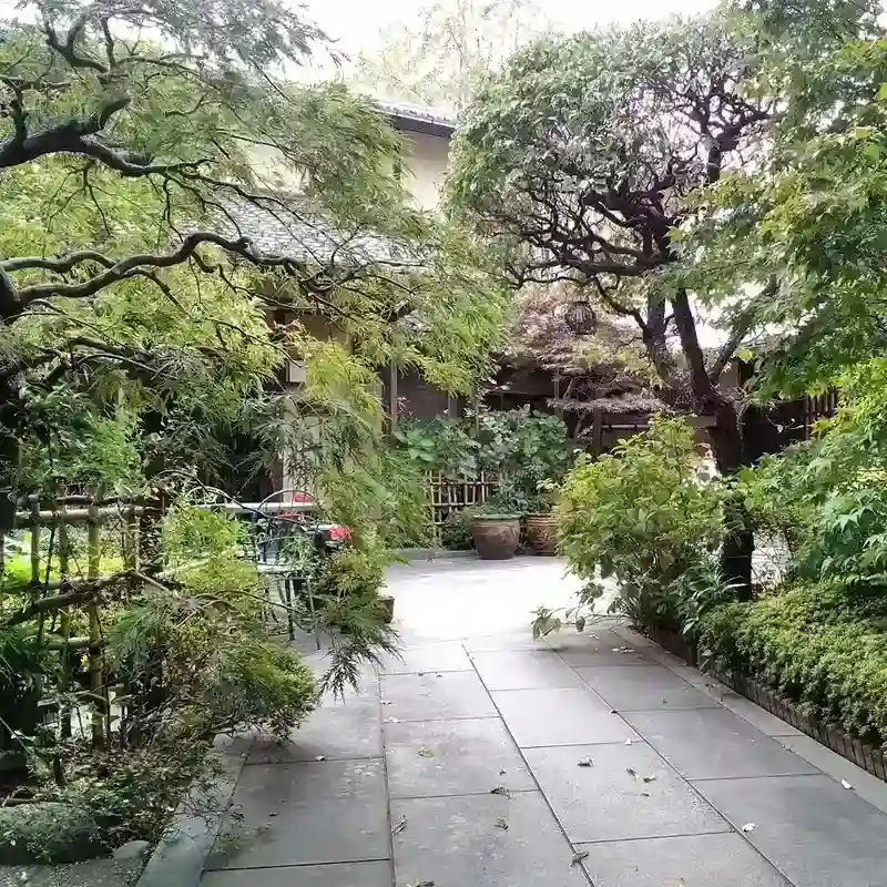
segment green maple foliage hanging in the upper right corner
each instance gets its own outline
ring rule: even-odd
[[[687,242],[695,285],[715,302],[771,286],[754,305],[771,333],[765,396],[827,386],[887,343],[877,6],[755,4],[759,82],[779,94],[781,114],[761,162],[731,170],[699,201]]]

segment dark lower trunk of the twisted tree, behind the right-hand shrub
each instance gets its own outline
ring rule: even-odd
[[[733,404],[724,401],[715,410],[715,424],[710,430],[717,470],[723,477],[735,475],[751,465],[743,441],[740,417]],[[740,600],[752,597],[752,555],[754,532],[745,504],[738,497],[727,499],[724,507],[726,534],[721,550],[721,573],[736,589]]]

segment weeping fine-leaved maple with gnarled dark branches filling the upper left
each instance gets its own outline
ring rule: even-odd
[[[377,368],[451,390],[485,370],[504,303],[477,243],[412,206],[370,101],[292,82],[329,51],[274,0],[34,0],[2,24],[3,486],[84,459],[132,486],[248,420],[273,455],[319,428],[309,472],[333,491],[364,466],[369,517]],[[273,396],[287,357],[307,383]]]

